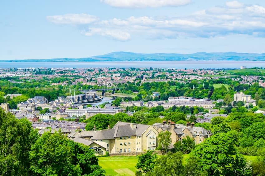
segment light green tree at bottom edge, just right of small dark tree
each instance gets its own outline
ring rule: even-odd
[[[154,169],[150,172],[147,172],[147,175],[182,176],[184,175],[184,167],[182,164],[182,160],[183,156],[181,152],[168,152],[167,155],[162,155],[160,158],[157,159]]]

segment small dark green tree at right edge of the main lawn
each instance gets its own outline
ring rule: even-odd
[[[155,161],[157,159],[157,153],[153,154],[153,151],[147,151],[145,154],[139,156],[136,164],[137,169],[141,169],[142,172],[147,173],[154,168]]]

